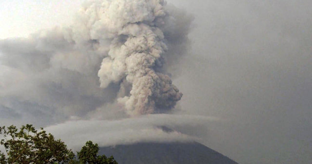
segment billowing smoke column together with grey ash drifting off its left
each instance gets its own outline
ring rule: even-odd
[[[107,103],[166,112],[182,97],[167,68],[187,52],[192,19],[163,0],[90,1],[70,27],[0,40],[0,107],[60,114],[51,122]]]

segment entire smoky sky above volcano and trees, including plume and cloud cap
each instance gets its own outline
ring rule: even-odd
[[[308,164],[311,7],[1,1],[0,125],[45,127],[73,150],[197,141],[241,164]]]

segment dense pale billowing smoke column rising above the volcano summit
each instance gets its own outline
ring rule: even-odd
[[[98,3],[98,4],[97,4]],[[168,49],[160,29],[167,13],[163,0],[115,0],[90,3],[82,12],[96,17],[91,39],[111,39],[108,56],[101,63],[100,86],[120,83],[132,87],[120,95],[130,115],[171,109],[182,93],[161,72]],[[91,16],[90,16],[91,15]]]

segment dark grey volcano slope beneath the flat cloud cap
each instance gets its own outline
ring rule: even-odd
[[[113,155],[119,164],[237,164],[197,142],[137,143],[100,147],[99,154]]]

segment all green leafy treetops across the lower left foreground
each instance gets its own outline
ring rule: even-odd
[[[88,141],[78,153],[67,149],[61,140],[55,140],[52,134],[46,134],[41,128],[38,132],[32,125],[27,124],[17,129],[16,126],[0,127],[0,145],[6,154],[0,151],[0,164],[118,164],[114,157],[97,156],[97,144]]]

